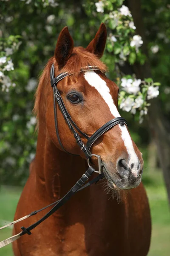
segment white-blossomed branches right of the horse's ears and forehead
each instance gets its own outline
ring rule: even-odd
[[[135,62],[144,64],[146,58],[141,51],[142,37],[135,34],[136,27],[130,10],[123,4],[123,0],[99,0],[96,3],[88,1],[86,11],[89,16],[95,15],[96,20],[104,22],[110,30],[106,44],[108,54],[105,54],[104,61],[111,70],[115,67],[116,72],[112,78],[116,79],[121,89],[120,108],[136,115],[141,123],[150,105],[147,101],[159,95],[160,83],[154,83],[148,78],[141,81],[134,74],[125,76],[121,71],[125,62],[131,65]],[[151,48],[153,53],[158,50],[158,46]]]

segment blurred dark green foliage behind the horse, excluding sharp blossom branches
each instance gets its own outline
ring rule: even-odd
[[[22,42],[12,56],[15,69],[11,79],[17,85],[9,93],[0,93],[0,182],[3,184],[23,185],[28,177],[29,163],[34,158],[37,139],[34,118],[31,118],[34,93],[43,67],[54,55],[59,32],[68,26],[75,46],[86,47],[100,25],[100,19],[93,12],[88,12],[87,5],[85,7],[85,4],[90,4],[89,1],[64,0],[55,8],[44,8],[42,1],[36,2],[36,5],[34,1],[27,5],[19,0],[0,1],[2,37],[20,35]],[[153,80],[163,84],[161,105],[169,117],[170,5],[168,0],[141,2]],[[108,25],[108,33],[112,26]],[[158,45],[159,50],[153,53],[151,47],[155,45]],[[136,60],[133,54],[129,58],[132,64]],[[115,79],[116,65],[109,48],[102,59],[109,66],[109,76]],[[124,68],[129,69],[126,66]],[[150,138],[146,122],[139,126],[130,114],[123,113],[123,116],[130,123],[135,142],[146,148]]]

